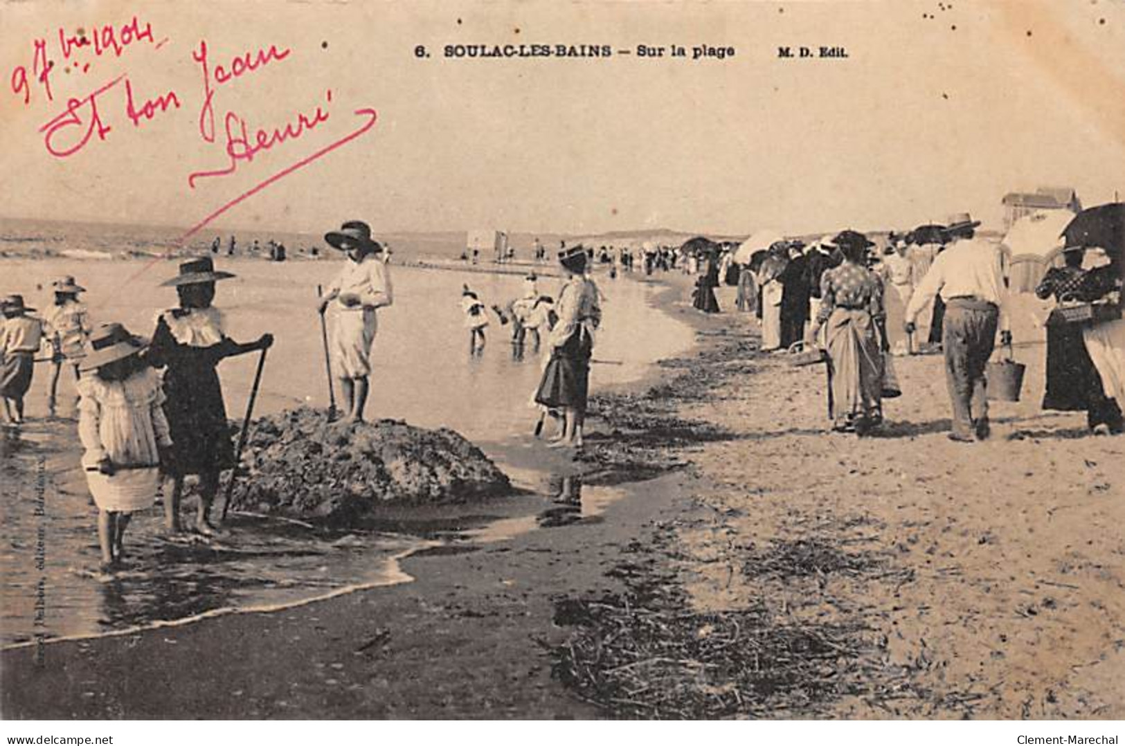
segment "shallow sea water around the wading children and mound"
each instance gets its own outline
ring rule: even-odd
[[[298,405],[327,406],[316,286],[331,281],[343,261],[334,252],[320,261],[216,259],[219,269],[237,275],[218,284],[215,300],[226,313],[230,334],[238,341],[264,332],[276,338],[267,354],[255,416]],[[0,293],[21,293],[28,304],[43,309],[52,298],[50,282],[73,275],[88,289],[82,299],[94,322],[122,322],[134,333],[148,335],[156,313],[176,305],[174,289],[160,286],[176,272],[177,262],[166,260],[4,259],[0,260]],[[534,458],[544,448],[531,438],[537,412],[530,402],[542,369],[541,354],[530,344],[522,351],[515,349],[511,325],[502,324],[492,311],[486,347],[483,353],[470,354],[460,305],[462,286],[468,285],[486,305],[504,306],[523,293],[523,273],[392,263],[395,303],[378,316],[369,419],[457,430],[496,459],[518,486],[544,495],[539,503],[525,497],[488,506],[478,512],[494,520],[478,520],[469,527],[451,519],[425,523],[425,531],[331,532],[267,516],[235,515],[222,539],[172,542],[161,538],[161,509],[156,506],[133,520],[126,537],[126,568],[104,575],[96,569],[97,511],[79,464],[72,374],[63,372],[60,419],[46,421],[50,369],[37,366],[27,399],[30,421],[18,435],[6,435],[0,448],[0,644],[285,606],[410,579],[397,559],[421,548],[494,541],[537,527],[572,524],[559,520],[560,509],[549,500],[558,475],[537,465]],[[654,361],[691,345],[691,330],[652,307],[657,286],[604,275],[595,279],[604,296],[603,324],[594,349],[597,362],[591,374],[595,392],[637,380],[651,370]],[[540,293],[558,297],[560,284],[558,277],[542,277]],[[219,367],[231,419],[244,414],[258,356],[228,359]],[[567,486],[564,507],[570,516],[576,511],[597,513],[622,494],[611,487],[586,487],[579,495]],[[183,510],[184,518],[190,518],[190,506]]]

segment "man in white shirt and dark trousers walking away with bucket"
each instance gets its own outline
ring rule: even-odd
[[[984,368],[996,347],[1011,343],[1006,313],[1008,288],[1004,257],[997,245],[974,237],[980,222],[968,213],[955,215],[946,228],[950,243],[915,287],[907,306],[906,330],[915,331],[922,308],[940,294],[945,302],[942,347],[945,379],[953,403],[951,440],[972,442],[989,437]]]

